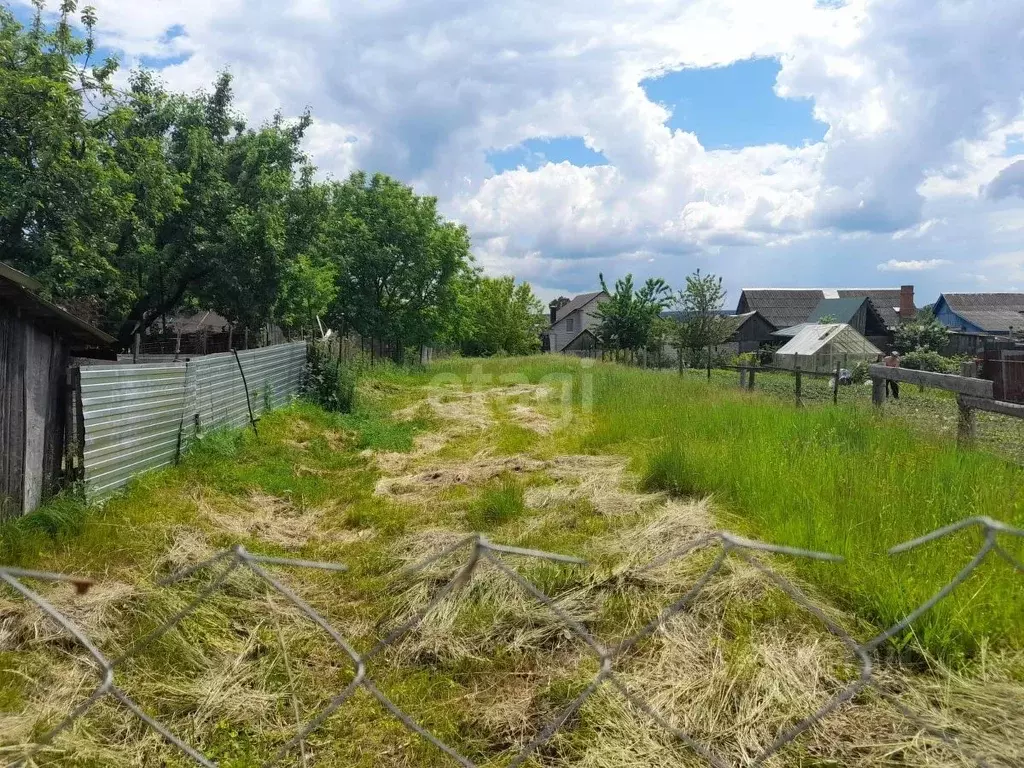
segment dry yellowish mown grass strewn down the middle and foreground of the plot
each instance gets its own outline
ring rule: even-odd
[[[522,398],[534,402],[517,401]],[[545,414],[536,388],[431,391],[397,418],[419,418],[424,410],[441,426],[418,435],[412,451],[362,452],[360,461],[376,467],[377,475],[358,470],[357,493],[340,484],[356,482],[346,474],[352,470],[331,458],[356,457],[350,436],[338,438],[345,433],[333,428],[334,438],[317,435],[319,427],[296,427],[295,417],[279,417],[289,425],[279,437],[291,452],[285,461],[294,493],[280,485],[239,488],[233,482],[208,487],[193,478],[175,490],[190,516],[160,529],[161,545],[137,563],[134,583],[100,580],[84,598],[61,586],[45,592],[105,652],[116,654],[179,609],[208,579],[158,589],[152,577],[209,556],[228,541],[297,556],[341,553],[351,562],[350,574],[302,572],[286,580],[367,649],[422,610],[465,563],[468,549],[415,573],[401,567],[464,539],[468,520],[475,519],[466,510],[489,503],[487,494],[505,493],[509,483],[518,489],[509,497],[520,500],[519,506],[514,514],[481,518],[493,520],[487,535],[509,545],[587,557],[589,566],[511,556],[505,561],[606,644],[656,616],[708,567],[712,553],[703,551],[641,572],[655,558],[718,527],[708,500],[643,493],[620,457],[551,456],[548,443],[544,451],[512,455],[485,449],[509,423],[551,436],[555,421]],[[269,425],[261,431],[270,431]],[[326,449],[317,447],[318,441],[326,441]],[[305,498],[307,487],[326,488],[325,498]],[[333,499],[336,493],[347,501]],[[776,558],[771,565],[792,579],[784,561]],[[810,595],[834,621],[862,632],[853,616]],[[734,558],[686,611],[616,668],[631,690],[730,763],[755,758],[856,676],[849,651],[836,637],[762,572]],[[959,672],[888,663],[878,677],[928,722],[949,728],[992,765],[1014,766],[1024,764],[1024,685],[1013,673],[1019,668],[1020,659],[993,655],[983,669]],[[50,623],[24,602],[4,599],[0,682],[13,674],[4,670],[13,669],[26,680],[15,686],[16,695],[0,699],[6,701],[0,712],[4,744],[30,740],[93,684],[80,654]],[[427,613],[371,670],[400,706],[476,762],[501,762],[515,754],[596,672],[593,654],[562,621],[486,561],[470,584]],[[294,729],[293,698],[308,718],[345,685],[351,671],[294,606],[268,598],[260,583],[240,574],[119,674],[148,711],[211,757],[225,766],[249,766],[259,765]],[[310,738],[307,758],[317,766],[451,764],[362,694]],[[535,759],[552,767],[707,765],[608,686]],[[110,703],[62,736],[58,749],[40,762],[185,764]],[[768,764],[970,763],[867,690]]]

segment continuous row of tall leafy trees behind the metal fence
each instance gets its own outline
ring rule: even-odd
[[[469,236],[384,175],[317,182],[309,114],[247,127],[231,78],[193,94],[92,67],[95,13],[0,8],[0,254],[125,346],[182,308],[423,344],[458,325]]]

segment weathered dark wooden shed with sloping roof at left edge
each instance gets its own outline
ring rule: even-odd
[[[69,359],[109,357],[115,343],[40,288],[0,263],[0,518],[32,511],[60,487]]]

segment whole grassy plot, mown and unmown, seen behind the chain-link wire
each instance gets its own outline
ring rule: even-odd
[[[988,453],[956,453],[855,406],[797,410],[724,382],[617,366],[584,371],[552,357],[451,360],[425,372],[377,369],[352,415],[296,406],[264,418],[259,437],[211,435],[181,465],[139,478],[101,510],[51,504],[0,529],[0,561],[95,579],[85,598],[65,587],[46,594],[111,656],[209,578],[155,582],[218,549],[243,543],[340,561],[348,573],[280,572],[366,651],[426,604],[458,561],[417,575],[403,566],[482,530],[585,557],[590,566],[510,563],[610,643],[685,592],[711,553],[646,574],[639,566],[725,526],[847,556],[845,565],[772,564],[866,638],[955,572],[978,537],[967,531],[898,559],[884,551],[970,514],[1024,522],[1021,479],[1021,469]],[[908,706],[993,765],[1024,756],[1020,582],[1008,566],[986,564],[898,638],[880,670]],[[597,669],[560,622],[488,568],[372,667],[399,707],[484,765],[507,763]],[[729,561],[622,674],[735,762],[839,691],[855,669],[813,617]],[[294,730],[293,706],[311,717],[351,670],[297,611],[238,579],[118,679],[230,768],[260,765]],[[0,755],[16,755],[92,681],[52,627],[0,596]],[[308,750],[309,765],[453,764],[361,692]],[[40,764],[187,763],[103,702]],[[298,756],[285,763],[301,764]],[[604,689],[530,764],[706,765]],[[964,764],[869,692],[769,761]]]

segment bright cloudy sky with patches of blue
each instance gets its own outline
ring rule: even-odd
[[[125,68],[310,108],[322,175],[436,196],[545,300],[697,268],[729,304],[1024,291],[1020,0],[90,2]]]

